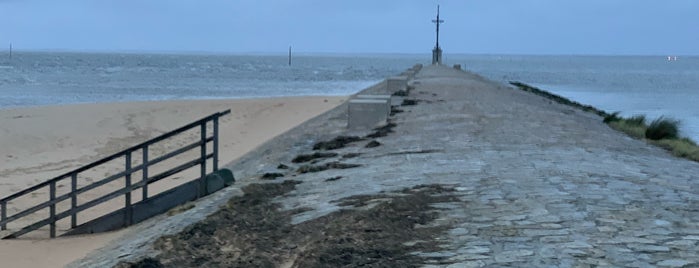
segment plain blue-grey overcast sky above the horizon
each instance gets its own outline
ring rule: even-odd
[[[445,53],[699,55],[699,0],[0,0],[0,44],[429,53],[437,4]]]

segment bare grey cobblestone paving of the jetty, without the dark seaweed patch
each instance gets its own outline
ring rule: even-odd
[[[294,222],[336,211],[340,207],[333,201],[344,197],[442,184],[456,189],[460,201],[435,206],[442,216],[432,224],[451,229],[434,238],[443,251],[415,252],[442,257],[427,267],[699,264],[699,163],[628,138],[596,115],[475,74],[428,66],[412,83],[408,98],[417,105],[400,107],[403,112],[392,119],[394,133],[375,139],[380,146],[357,142],[335,152],[358,157],[323,160],[361,167],[293,175],[303,183],[278,202],[287,209],[310,208]],[[343,109],[229,165],[243,178],[236,187],[311,152],[319,140],[366,134],[344,130]],[[230,196],[226,191],[215,202]],[[191,222],[196,213],[203,217],[210,210],[178,217]],[[154,226],[175,225],[145,223],[136,229],[160,232]],[[96,260],[146,248],[146,242],[122,241],[131,244],[113,245],[77,265],[103,265]]]

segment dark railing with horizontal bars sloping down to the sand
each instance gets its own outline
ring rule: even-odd
[[[148,140],[146,142],[143,142],[141,144],[138,144],[136,146],[133,146],[131,148],[128,148],[126,150],[123,150],[119,153],[113,154],[111,156],[105,157],[101,160],[98,160],[96,162],[93,162],[91,164],[88,164],[86,166],[80,167],[76,170],[70,171],[68,173],[65,173],[63,175],[60,175],[58,177],[55,177],[53,179],[50,179],[48,181],[45,181],[43,183],[40,183],[38,185],[32,186],[30,188],[27,188],[25,190],[22,190],[20,192],[17,192],[15,194],[12,194],[8,197],[5,197],[3,199],[0,199],[0,230],[7,230],[7,224],[14,222],[16,220],[19,220],[21,218],[27,217],[29,215],[32,215],[42,209],[49,209],[49,215],[48,218],[45,218],[43,220],[34,222],[32,224],[29,224],[23,228],[21,228],[18,231],[15,231],[9,235],[4,236],[2,239],[7,239],[7,238],[16,238],[18,236],[24,235],[26,233],[32,232],[34,230],[37,230],[41,227],[44,227],[46,225],[49,225],[50,227],[50,236],[51,238],[56,237],[56,222],[70,217],[71,221],[71,228],[75,228],[77,226],[77,218],[78,218],[78,213],[81,211],[84,211],[86,209],[92,208],[94,206],[97,206],[99,204],[102,204],[104,202],[107,202],[109,200],[112,200],[114,198],[117,198],[119,196],[124,196],[125,199],[125,204],[124,208],[126,211],[126,218],[125,218],[125,223],[126,226],[132,224],[132,219],[133,219],[133,210],[132,210],[132,198],[131,198],[131,193],[137,189],[141,189],[142,193],[142,199],[141,201],[147,200],[148,199],[148,185],[157,181],[160,181],[164,178],[170,177],[174,174],[177,174],[179,172],[182,172],[184,170],[187,170],[189,168],[195,167],[197,165],[200,166],[200,177],[199,177],[199,189],[198,189],[198,195],[203,196],[206,194],[206,185],[205,185],[205,177],[206,177],[206,162],[208,159],[213,158],[213,164],[212,164],[212,169],[213,171],[218,170],[218,143],[219,143],[219,137],[218,137],[218,125],[219,125],[219,117],[224,116],[226,114],[229,114],[230,110],[226,110],[223,112],[218,112],[212,115],[209,115],[205,118],[202,118],[196,122],[192,122],[188,125],[185,125],[183,127],[180,127],[178,129],[175,129],[173,131],[170,131],[168,133],[162,134],[156,138],[153,138],[151,140]],[[213,122],[213,135],[208,136],[207,135],[207,124],[209,122]],[[171,151],[167,154],[164,154],[162,156],[155,157],[153,159],[149,159],[149,147],[151,145],[154,145],[158,142],[161,142],[163,140],[166,140],[168,138],[171,138],[173,136],[176,136],[178,134],[181,134],[185,131],[188,131],[190,129],[194,129],[196,127],[200,128],[201,132],[201,137],[198,141],[190,143],[188,145],[185,145],[183,147],[180,147],[179,149],[176,149],[174,151]],[[207,144],[213,142],[213,152],[207,153]],[[170,158],[173,158],[175,156],[181,155],[185,152],[188,152],[190,150],[199,148],[201,153],[198,158],[193,159],[191,161],[188,161],[184,164],[178,165],[174,168],[171,168],[167,171],[161,172],[159,174],[149,176],[148,171],[149,167],[152,165],[155,165],[157,163],[161,163],[165,160],[168,160]],[[138,164],[136,166],[132,166],[132,154],[137,151],[142,151],[142,161],[141,164]],[[102,180],[93,182],[91,184],[82,186],[78,188],[78,175],[86,172],[88,170],[94,169],[95,167],[104,165],[105,163],[108,163],[110,161],[113,161],[115,159],[124,157],[125,158],[125,163],[124,163],[124,170],[117,173],[113,174],[111,176],[108,176],[106,178],[103,178]],[[141,180],[133,183],[132,182],[132,174],[135,172],[140,172],[141,173]],[[92,199],[84,204],[78,205],[78,196],[82,193],[85,193],[89,190],[95,189],[97,187],[103,186],[107,183],[113,182],[117,179],[124,178],[124,187],[115,191],[112,191],[110,193],[107,193],[106,195],[103,195],[101,197]],[[70,192],[66,194],[62,194],[60,196],[56,196],[56,186],[59,182],[66,182],[67,180],[70,180]],[[45,202],[41,202],[38,205],[29,207],[27,209],[24,209],[20,212],[17,212],[12,215],[8,215],[7,207],[8,203],[26,196],[30,195],[32,193],[37,193],[40,191],[45,191],[46,188],[48,188],[49,192],[49,198]],[[70,209],[62,211],[60,213],[56,212],[56,204],[62,201],[70,200]]]

